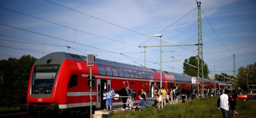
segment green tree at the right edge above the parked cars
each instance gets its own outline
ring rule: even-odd
[[[248,77],[248,85],[256,84],[256,62],[254,64],[249,64],[246,67],[240,67],[238,69],[237,83],[238,83],[238,87],[241,87],[241,89],[243,90],[248,89],[247,77]]]

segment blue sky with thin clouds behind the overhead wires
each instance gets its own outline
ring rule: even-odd
[[[149,37],[153,37],[154,34],[164,30],[190,11],[192,12],[161,32],[163,34],[162,41],[164,41],[162,42],[162,45],[196,44],[198,42],[197,5],[194,0],[50,1],[81,13],[46,0],[0,0],[0,54],[2,54],[0,55],[0,59],[8,59],[10,57],[5,55],[20,57],[28,54],[41,58],[46,55],[45,53],[58,51],[67,52],[68,48],[65,46],[70,46],[72,47],[70,53],[81,55],[85,53],[96,54],[97,58],[100,59],[132,65],[144,65],[144,54],[140,53],[144,50],[143,48],[138,48],[138,46],[160,45],[159,37],[154,37],[158,40],[153,38],[149,40]],[[221,73],[222,69],[225,69],[225,73],[233,75],[233,72],[228,72],[233,71],[233,54],[235,54],[236,69],[241,66],[246,67],[248,64],[254,64],[254,62],[256,62],[256,1],[201,0],[201,2],[201,8],[204,14],[220,40],[229,50],[228,51],[222,45],[207,22],[203,12],[201,12],[203,59],[204,62],[208,64],[209,70],[213,71],[214,66],[212,64],[216,64],[216,73]],[[6,10],[5,8],[13,11]],[[62,26],[14,11],[54,22]],[[93,16],[94,18],[88,15]],[[118,26],[125,27],[126,29]],[[18,38],[23,38],[23,40]],[[35,41],[40,41],[42,43]],[[72,43],[74,41],[76,43]],[[144,43],[145,41],[147,42]],[[38,43],[41,45],[29,43]],[[47,43],[61,46],[48,46]],[[6,46],[8,48],[6,48]],[[32,50],[24,51],[28,49]],[[162,51],[176,50],[175,52],[165,53],[174,56],[177,59],[181,59],[182,61],[197,54],[197,50],[180,51],[185,49],[191,50],[197,49],[197,47],[163,47]],[[160,69],[160,65],[158,64],[160,62],[159,50],[159,47],[146,49],[146,67]],[[120,53],[129,56],[130,59]],[[172,72],[173,67],[174,72],[182,73],[183,63],[173,60],[175,59],[163,54],[163,70]],[[211,74],[209,77],[211,77]]]

